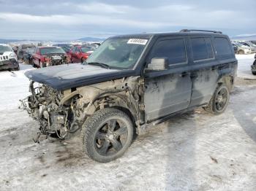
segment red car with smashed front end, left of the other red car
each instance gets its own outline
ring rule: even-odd
[[[70,57],[61,47],[37,47],[32,55],[34,67],[56,66],[70,63]]]

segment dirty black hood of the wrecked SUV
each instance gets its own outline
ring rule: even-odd
[[[71,63],[26,71],[25,75],[34,82],[49,85],[56,90],[67,90],[72,87],[129,77],[134,73],[133,70],[104,69],[99,66]]]

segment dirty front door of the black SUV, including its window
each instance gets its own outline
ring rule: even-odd
[[[148,63],[152,58],[168,58],[170,69],[145,73],[144,103],[147,121],[189,106],[192,82],[186,44],[187,39],[178,36],[160,38],[154,44]]]

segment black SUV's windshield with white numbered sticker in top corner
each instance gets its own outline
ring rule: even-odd
[[[107,39],[86,60],[86,63],[104,63],[110,67],[130,69],[140,58],[148,39]]]

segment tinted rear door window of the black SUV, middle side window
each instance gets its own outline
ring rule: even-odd
[[[192,38],[191,46],[194,61],[201,61],[214,58],[214,52],[210,38]]]

